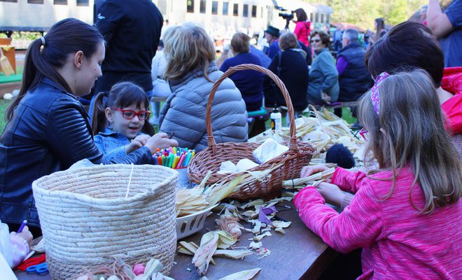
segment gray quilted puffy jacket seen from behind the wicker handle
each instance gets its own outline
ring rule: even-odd
[[[208,68],[210,80],[223,75],[215,62]],[[160,113],[160,131],[174,132],[179,147],[201,151],[207,147],[205,108],[214,83],[204,78],[202,70],[188,73],[181,80],[169,81],[172,94]],[[216,91],[211,110],[211,125],[216,143],[246,142],[248,138],[246,103],[230,79]]]

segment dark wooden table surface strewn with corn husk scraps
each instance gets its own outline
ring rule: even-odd
[[[255,267],[260,267],[261,271],[255,279],[261,280],[295,280],[295,279],[318,279],[328,265],[335,259],[337,252],[321,240],[318,236],[304,226],[300,220],[295,208],[291,203],[288,203],[292,209],[281,211],[277,216],[287,221],[292,221],[292,224],[286,228],[286,234],[276,233],[271,231],[272,236],[265,237],[261,240],[263,246],[271,251],[271,255],[258,259],[258,256],[246,256],[243,260],[232,260],[228,258],[214,258],[216,265],[210,265],[207,270],[207,278],[210,280],[218,280],[229,274],[239,272],[241,270],[251,270]],[[283,209],[277,207],[277,209]],[[214,230],[217,219],[216,213],[211,214],[206,220],[204,228],[200,233],[196,233],[185,240],[193,241],[200,244],[200,238],[209,230]],[[251,225],[243,223],[242,226],[250,228]],[[243,233],[237,246],[248,246],[253,235],[251,233]],[[192,256],[178,254],[175,258],[176,265],[172,268],[169,277],[176,280],[200,279],[195,272],[194,265],[191,263]],[[188,271],[187,269],[191,271]],[[17,272],[19,280],[50,280],[49,274],[38,276],[36,274],[26,274],[25,272]]]

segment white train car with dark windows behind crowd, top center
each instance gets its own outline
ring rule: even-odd
[[[286,20],[279,14],[290,15],[297,8],[303,8],[316,27],[328,27],[330,14],[333,11],[328,6],[297,0],[158,0],[153,2],[158,4],[162,15],[169,20],[169,24],[195,22],[214,37],[216,34],[230,36],[236,31],[258,33],[268,24],[283,29]],[[288,28],[293,30],[295,24],[290,23]]]

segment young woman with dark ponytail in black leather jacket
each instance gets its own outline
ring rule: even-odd
[[[10,230],[27,220],[40,235],[31,184],[81,159],[92,163],[154,163],[157,148],[177,145],[156,135],[145,147],[108,160],[94,145],[92,129],[78,96],[90,93],[101,77],[104,39],[76,19],[57,22],[27,50],[20,94],[6,111],[0,136],[0,219]]]

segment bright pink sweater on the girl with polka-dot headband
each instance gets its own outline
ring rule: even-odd
[[[392,174],[382,171],[372,177]],[[356,193],[341,214],[325,205],[312,186],[297,193],[294,205],[307,227],[332,249],[347,253],[363,248],[358,279],[461,279],[462,200],[419,214],[409,199],[413,180],[412,170],[402,170],[393,195],[383,200],[393,181],[337,168],[332,184]],[[425,203],[419,185],[412,190],[412,201],[419,209]]]

